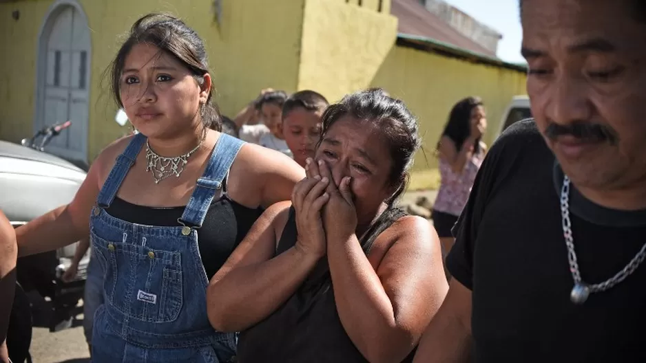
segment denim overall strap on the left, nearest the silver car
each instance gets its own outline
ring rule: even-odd
[[[105,179],[103,183],[103,188],[101,192],[98,193],[96,198],[96,204],[101,208],[108,208],[116,196],[116,192],[121,187],[125,175],[127,175],[128,170],[134,165],[134,161],[137,159],[137,155],[141,150],[141,147],[146,142],[146,137],[140,133],[137,133],[132,137],[130,143],[125,148],[123,153],[116,158],[116,163],[110,170],[110,175]]]

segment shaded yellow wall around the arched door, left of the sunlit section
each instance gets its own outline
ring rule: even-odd
[[[92,32],[89,159],[122,135],[103,72],[129,27],[143,14],[171,12],[207,43],[222,112],[235,115],[264,87],[297,88],[304,0],[223,0],[222,23],[211,1],[79,0]],[[18,141],[32,133],[38,32],[52,0],[0,3],[0,137]],[[19,10],[18,21],[11,13]],[[280,19],[280,21],[276,21]],[[122,36],[119,36],[119,35]]]

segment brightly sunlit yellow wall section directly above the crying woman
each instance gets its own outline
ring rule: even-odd
[[[329,100],[368,87],[397,39],[397,18],[377,6],[306,0],[298,89]]]

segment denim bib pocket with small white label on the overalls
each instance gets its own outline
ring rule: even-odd
[[[104,265],[106,303],[144,322],[174,322],[183,306],[180,252],[107,241],[91,231],[92,247]]]

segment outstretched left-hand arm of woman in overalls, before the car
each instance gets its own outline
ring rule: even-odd
[[[56,250],[87,238],[90,234],[90,211],[99,191],[100,159],[90,167],[72,202],[16,229],[19,256]]]

